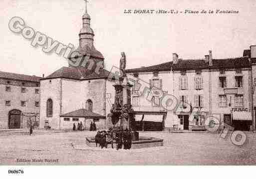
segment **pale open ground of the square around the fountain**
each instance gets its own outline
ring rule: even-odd
[[[230,132],[231,133],[231,132]],[[119,150],[85,148],[85,137],[96,132],[35,130],[0,132],[1,165],[255,165],[256,134],[247,132],[243,146],[230,137],[212,133],[140,132],[140,136],[164,139],[163,147]],[[23,163],[17,159],[32,159]],[[47,159],[45,162],[44,160]],[[43,160],[43,162],[40,162]],[[53,161],[55,160],[55,162]],[[56,162],[57,160],[57,162]]]

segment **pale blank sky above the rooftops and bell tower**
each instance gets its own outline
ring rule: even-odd
[[[119,66],[125,52],[127,69],[180,58],[204,58],[209,50],[213,58],[240,57],[244,49],[256,45],[255,0],[89,0],[88,13],[94,30],[94,46],[105,60],[105,68]],[[127,14],[124,9],[205,9],[238,10],[237,14]],[[47,54],[41,46],[31,46],[8,28],[13,16],[26,26],[65,45],[78,46],[78,33],[85,12],[84,0],[1,0],[0,71],[45,76],[67,60]]]

